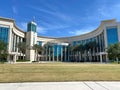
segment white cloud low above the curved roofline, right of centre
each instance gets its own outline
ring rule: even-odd
[[[89,33],[89,32],[91,32],[93,30],[95,30],[95,27],[89,27],[89,28],[83,28],[83,29],[80,29],[80,30],[70,31],[69,34],[72,34],[72,35],[81,35],[81,34]]]

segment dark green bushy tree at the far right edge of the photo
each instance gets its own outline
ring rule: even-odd
[[[112,44],[107,48],[108,57],[110,60],[116,60],[119,64],[120,59],[120,43]]]

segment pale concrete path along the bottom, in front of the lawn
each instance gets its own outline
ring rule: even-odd
[[[0,90],[120,90],[120,82],[0,83]]]

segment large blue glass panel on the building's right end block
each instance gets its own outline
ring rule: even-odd
[[[117,27],[107,28],[107,43],[108,43],[108,45],[115,44],[117,42],[118,42]]]

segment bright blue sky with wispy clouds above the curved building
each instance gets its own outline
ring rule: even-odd
[[[66,37],[90,32],[101,20],[120,21],[120,0],[0,0],[0,16],[19,28],[35,17],[41,36]]]

